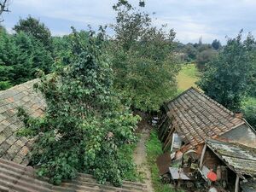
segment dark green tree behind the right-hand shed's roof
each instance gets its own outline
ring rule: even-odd
[[[254,39],[248,35],[242,41],[241,33],[228,40],[198,82],[208,96],[231,110],[239,109],[242,99],[247,96],[248,80],[252,77],[255,62]]]

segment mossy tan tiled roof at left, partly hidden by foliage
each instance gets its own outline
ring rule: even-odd
[[[0,91],[0,157],[27,165],[26,155],[32,141],[26,137],[17,137],[16,132],[23,127],[17,117],[17,108],[22,107],[34,117],[44,112],[45,102],[40,94],[33,90],[38,79],[19,84],[9,90]]]

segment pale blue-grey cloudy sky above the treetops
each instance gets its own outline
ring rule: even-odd
[[[11,13],[4,14],[8,30],[19,18],[32,15],[43,21],[54,35],[71,32],[70,26],[86,29],[113,23],[112,9],[117,0],[11,0]],[[131,0],[136,3],[138,0]],[[182,43],[211,43],[218,38],[235,37],[244,29],[256,35],[256,0],[146,0],[148,13],[155,12],[154,25],[167,24]]]

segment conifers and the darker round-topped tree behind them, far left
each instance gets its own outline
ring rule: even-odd
[[[0,90],[34,79],[39,69],[50,73],[54,63],[50,32],[44,24],[29,16],[14,31],[9,34],[0,26]]]

